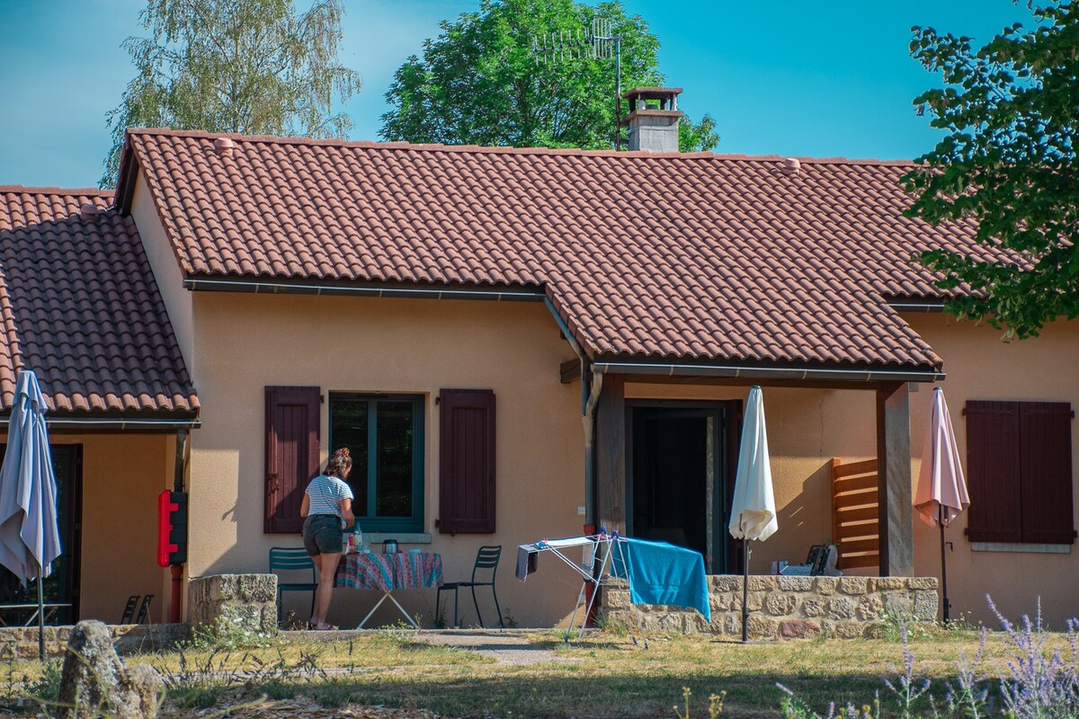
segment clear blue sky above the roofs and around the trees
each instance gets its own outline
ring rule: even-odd
[[[353,139],[378,139],[394,70],[478,0],[345,0],[342,60],[364,92]],[[301,6],[305,3],[299,0]],[[680,107],[708,112],[718,152],[905,158],[937,134],[911,100],[937,78],[910,58],[912,25],[987,40],[1028,20],[1012,0],[624,0],[661,43]],[[0,184],[88,186],[105,113],[133,73],[121,42],[145,0],[0,0]]]

